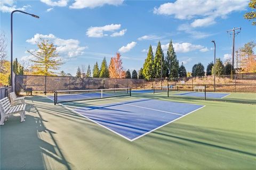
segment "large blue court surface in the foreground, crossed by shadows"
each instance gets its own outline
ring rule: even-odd
[[[197,104],[140,99],[77,108],[74,111],[111,132],[134,141],[202,107],[204,106]]]

